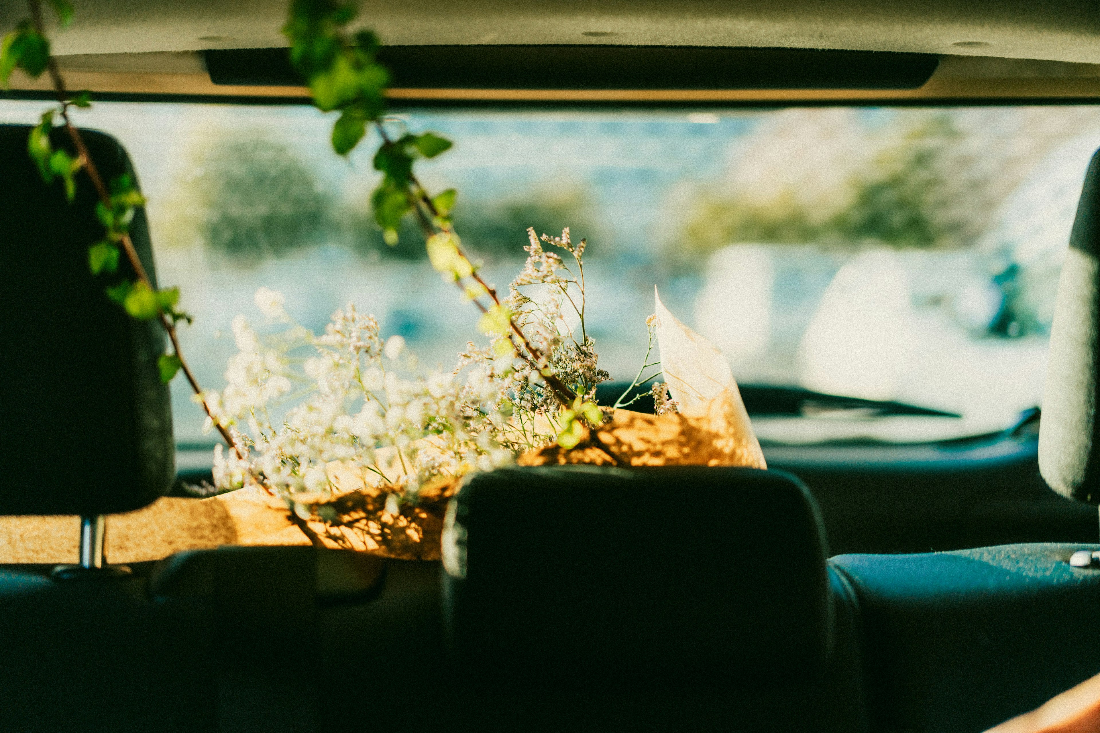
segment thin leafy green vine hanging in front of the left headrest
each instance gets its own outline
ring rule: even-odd
[[[50,76],[59,108],[43,113],[38,125],[31,132],[28,140],[28,151],[38,167],[46,184],[61,178],[65,187],[65,196],[72,202],[76,198],[76,175],[84,170],[91,181],[99,202],[96,214],[103,224],[105,237],[88,249],[88,266],[94,275],[118,275],[119,258],[124,254],[133,270],[134,278],[119,279],[107,288],[107,296],[118,302],[132,318],[138,320],[156,319],[172,344],[172,353],[163,354],[157,360],[161,380],[170,381],[177,373],[183,373],[207,415],[210,417],[226,443],[238,454],[240,449],[230,432],[211,414],[209,406],[202,397],[195,374],[184,358],[176,333],[180,321],[191,322],[191,316],[176,309],[179,302],[178,288],[154,287],[145,267],[138,256],[133,241],[130,237],[130,223],[138,207],[144,206],[145,199],[129,176],[120,176],[110,187],[103,180],[96,162],[88,153],[80,131],[69,118],[69,108],[88,108],[91,105],[91,95],[88,91],[72,93],[65,86],[65,80],[57,68],[57,60],[50,53],[50,41],[46,36],[45,20],[41,0],[28,0],[31,18],[22,21],[14,31],[7,34],[0,45],[0,86],[7,88],[11,73],[19,68],[37,78],[46,73]],[[62,27],[73,20],[73,7],[67,0],[50,0],[57,14]],[[55,116],[59,116],[65,127],[76,157],[64,149],[55,149],[50,133],[54,127]]]

